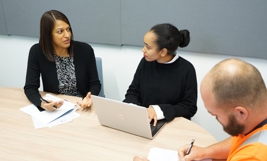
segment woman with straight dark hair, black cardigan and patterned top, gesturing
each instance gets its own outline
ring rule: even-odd
[[[82,103],[77,104],[83,108],[92,105],[91,95],[98,95],[101,89],[94,50],[87,43],[73,41],[68,18],[56,10],[41,18],[39,43],[29,52],[24,92],[39,110],[60,108],[63,101],[40,100],[40,74],[44,92],[81,97]]]

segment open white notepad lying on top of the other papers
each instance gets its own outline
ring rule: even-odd
[[[44,99],[49,99],[52,101],[62,100],[49,94],[46,94],[46,97]],[[54,110],[54,111],[45,110],[45,111],[40,112],[38,108],[34,106],[34,104],[20,108],[19,110],[47,124],[59,118],[60,116],[62,116],[63,114],[65,114],[66,112],[70,110],[72,110],[71,113],[74,113],[77,110],[77,105],[64,100],[64,104],[58,110]]]

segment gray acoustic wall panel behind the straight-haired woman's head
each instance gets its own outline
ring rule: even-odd
[[[72,26],[74,40],[121,44],[120,0],[2,0],[10,35],[40,35],[40,19],[49,10],[64,13]]]

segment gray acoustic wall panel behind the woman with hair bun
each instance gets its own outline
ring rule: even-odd
[[[267,58],[267,1],[121,0],[121,43],[143,46],[159,23],[188,29],[179,50]]]

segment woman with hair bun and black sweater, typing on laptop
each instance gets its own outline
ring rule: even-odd
[[[194,66],[176,54],[190,42],[188,30],[171,24],[155,25],[144,36],[144,57],[123,102],[148,108],[157,120],[190,119],[197,112],[197,76]]]

